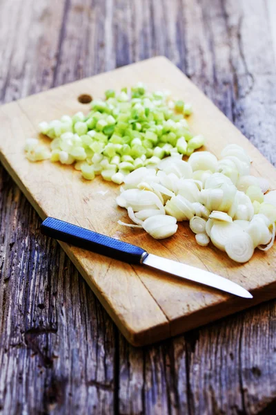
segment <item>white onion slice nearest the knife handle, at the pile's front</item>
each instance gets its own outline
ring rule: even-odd
[[[150,216],[144,221],[143,228],[155,239],[171,237],[177,232],[177,220],[172,216]]]

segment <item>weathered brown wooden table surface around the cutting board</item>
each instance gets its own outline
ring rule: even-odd
[[[0,100],[166,55],[275,164],[275,15],[274,0],[0,0]],[[0,415],[276,413],[276,301],[135,349],[0,170]]]

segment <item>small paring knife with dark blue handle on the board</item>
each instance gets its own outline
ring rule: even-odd
[[[244,298],[253,298],[253,295],[248,293],[245,288],[230,281],[230,279],[201,270],[201,268],[195,268],[194,266],[172,261],[171,259],[157,257],[157,255],[149,254],[144,249],[139,248],[139,246],[118,241],[118,239],[107,237],[106,235],[81,228],[77,225],[72,225],[72,223],[48,217],[41,224],[41,232],[48,237],[71,243],[79,248],[118,259],[128,264],[150,266],[151,268],[176,275],[180,278],[189,279],[199,284],[226,291],[226,293]]]

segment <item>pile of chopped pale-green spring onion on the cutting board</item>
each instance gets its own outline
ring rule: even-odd
[[[117,94],[109,89],[106,100],[92,101],[87,116],[79,112],[41,122],[39,131],[52,139],[50,149],[30,138],[26,156],[31,161],[50,158],[75,165],[87,180],[101,174],[104,180],[121,184],[135,169],[156,167],[165,156],[190,156],[204,144],[203,136],[193,136],[188,129],[185,117],[191,112],[190,104],[173,101],[169,93],[150,93],[141,83],[130,94],[126,88]],[[168,169],[184,176],[177,165]]]

